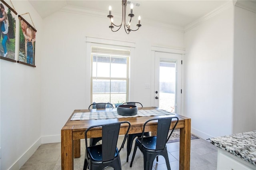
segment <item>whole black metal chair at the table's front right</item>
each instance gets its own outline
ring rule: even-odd
[[[170,135],[168,136],[172,119],[177,119],[177,121],[173,126]],[[150,121],[156,121],[156,120],[158,121],[157,135],[144,137],[143,134],[145,131],[146,124]],[[179,120],[178,117],[162,117],[162,118],[155,118],[155,119],[150,119],[146,121],[144,123],[142,137],[137,138],[135,140],[135,146],[132,154],[132,161],[131,161],[130,167],[132,167],[132,162],[134,160],[136,150],[137,148],[139,148],[144,158],[144,170],[152,170],[154,159],[156,158],[156,161],[158,162],[158,156],[160,155],[164,156],[167,169],[170,170],[171,168],[170,168],[170,163],[168,158],[166,142],[169,140],[170,136],[172,135],[172,132],[176,127],[178,120]]]

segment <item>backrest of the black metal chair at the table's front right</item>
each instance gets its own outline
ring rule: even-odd
[[[177,121],[175,122],[174,127],[172,128],[172,131],[171,131],[170,135],[168,136],[168,133],[170,130],[170,125],[172,123],[172,119],[176,119]],[[150,121],[156,121],[156,120],[158,121],[157,131],[156,131],[156,134],[157,134],[156,135],[156,150],[162,150],[162,149],[164,149],[166,142],[169,140],[170,136],[172,135],[173,130],[175,129],[176,125],[178,124],[179,118],[178,117],[162,117],[162,118],[149,119],[148,121],[146,121],[144,123],[143,132],[142,132],[142,140],[144,138],[144,131],[145,131],[146,124]],[[141,142],[141,144],[142,144],[142,142]]]

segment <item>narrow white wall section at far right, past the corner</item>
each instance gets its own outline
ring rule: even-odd
[[[234,124],[232,133],[256,129],[255,45],[256,14],[234,6]]]

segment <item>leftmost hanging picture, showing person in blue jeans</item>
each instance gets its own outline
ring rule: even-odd
[[[0,1],[0,58],[16,62],[15,40],[16,40],[16,18],[17,12],[4,0]]]

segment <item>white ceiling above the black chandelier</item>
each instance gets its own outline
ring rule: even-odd
[[[230,0],[130,0],[134,6],[133,14],[136,20],[154,20],[164,24],[184,27],[202,16],[212,12]],[[108,7],[112,6],[112,15],[121,15],[122,0],[29,0],[42,18],[53,14],[65,6],[75,6],[108,15]],[[130,13],[130,5],[127,12]],[[127,15],[128,15],[127,14]],[[106,17],[107,19],[107,17]]]

